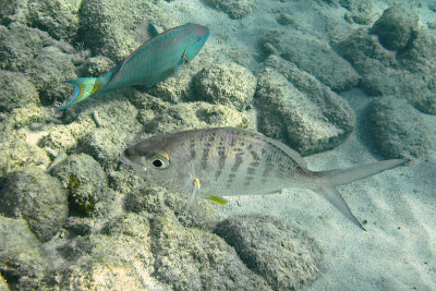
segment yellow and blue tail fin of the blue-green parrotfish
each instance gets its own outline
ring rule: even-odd
[[[80,77],[74,80],[66,80],[64,83],[74,86],[73,96],[66,101],[65,105],[57,107],[58,110],[66,109],[80,101],[85,100],[87,97],[98,92],[101,87],[101,83],[96,77]]]

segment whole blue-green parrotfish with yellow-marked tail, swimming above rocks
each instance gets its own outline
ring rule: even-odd
[[[62,110],[85,100],[92,95],[108,93],[132,85],[153,86],[177,73],[179,68],[191,61],[202,49],[209,36],[209,28],[187,23],[158,34],[150,25],[154,35],[111,71],[99,77],[80,77],[65,83],[74,86],[73,96]]]

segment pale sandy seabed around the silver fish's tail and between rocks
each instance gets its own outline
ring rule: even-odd
[[[237,21],[205,7],[199,0],[180,0],[168,7],[180,23],[197,22],[209,26],[211,35],[206,49],[217,51],[218,58],[247,56],[245,65],[255,70],[258,63],[253,36],[271,28],[282,29],[274,12],[291,13],[304,29],[327,38],[320,12],[304,2],[310,1],[283,4],[261,0],[261,12]],[[374,14],[380,15],[385,8],[386,3],[377,2]],[[338,17],[338,23],[343,23],[343,12],[338,9],[326,8],[323,13],[331,13],[332,17]],[[422,22],[432,16],[426,5],[419,13],[422,13]],[[360,90],[347,93],[344,97],[358,114],[371,101]],[[429,129],[436,129],[435,116],[423,117]],[[222,217],[269,214],[307,231],[324,252],[323,270],[312,290],[436,290],[436,130],[429,134],[433,151],[428,159],[413,160],[404,167],[339,189],[358,219],[367,220],[366,232],[315,193],[303,190],[229,197],[229,204],[220,206],[219,211]],[[305,159],[310,169],[322,170],[367,163],[379,157],[375,157],[354,133],[338,148]]]

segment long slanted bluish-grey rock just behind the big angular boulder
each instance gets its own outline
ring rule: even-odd
[[[336,92],[358,85],[359,74],[351,64],[318,38],[291,29],[286,33],[271,32],[262,41],[265,49],[270,50],[269,46],[275,47],[283,59],[311,73]]]

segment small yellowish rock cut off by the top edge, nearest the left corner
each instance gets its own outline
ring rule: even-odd
[[[26,24],[48,32],[56,39],[74,40],[78,31],[80,3],[76,0],[31,0]]]

